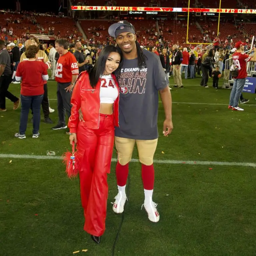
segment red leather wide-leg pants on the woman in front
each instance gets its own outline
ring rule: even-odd
[[[80,161],[80,193],[84,208],[84,230],[94,236],[105,231],[108,183],[114,147],[114,116],[100,114],[99,129],[79,123],[77,150]]]

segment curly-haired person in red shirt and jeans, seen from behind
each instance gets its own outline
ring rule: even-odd
[[[26,49],[25,55],[28,58],[26,61],[20,62],[15,74],[16,81],[21,81],[21,114],[19,133],[15,133],[15,137],[25,139],[28,114],[32,105],[34,113],[33,118],[33,136],[38,138],[40,125],[40,110],[44,96],[44,82],[48,80],[48,66],[44,62],[37,61],[39,48],[36,45],[31,45]]]

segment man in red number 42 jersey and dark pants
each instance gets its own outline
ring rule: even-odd
[[[59,121],[53,130],[66,129],[65,110],[67,118],[71,115],[71,95],[75,81],[79,74],[76,57],[68,51],[68,42],[65,39],[55,41],[55,47],[60,54],[56,65],[55,80],[57,81],[57,103]],[[64,110],[65,109],[65,110]],[[69,131],[68,131],[69,134]]]

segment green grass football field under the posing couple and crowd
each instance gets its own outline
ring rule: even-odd
[[[230,90],[202,88],[199,83],[199,78],[184,79],[185,89],[171,91],[174,130],[168,138],[161,136],[164,111],[159,103],[155,159],[172,160],[155,164],[153,200],[160,221],[151,223],[141,210],[140,165],[132,162],[129,201],[114,255],[256,255],[255,95],[244,94],[250,102],[243,105],[244,112],[234,112],[227,109]],[[11,84],[9,90],[18,96],[20,85]],[[48,82],[48,90],[55,109],[50,117],[56,124],[56,83]],[[32,139],[30,121],[27,138],[14,138],[20,108],[13,111],[12,107],[7,100],[8,111],[0,113],[0,154],[46,156],[51,150],[61,156],[69,149],[65,131],[53,131],[53,125],[44,122],[38,139]],[[138,159],[137,150],[133,158]],[[106,232],[100,245],[83,231],[79,180],[66,177],[61,160],[10,156],[0,157],[0,166],[1,256],[69,256],[78,250],[74,255],[112,255],[122,219],[111,204],[117,193],[115,162],[108,179]]]

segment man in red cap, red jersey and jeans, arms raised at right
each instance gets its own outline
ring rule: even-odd
[[[256,52],[254,48],[249,51],[249,54],[254,51],[253,57],[250,57],[248,54],[243,53],[244,43],[238,41],[235,44],[236,52],[233,54],[233,63],[238,68],[238,76],[234,77],[233,88],[230,93],[229,105],[228,108],[236,111],[243,111],[243,108],[238,107],[238,101],[240,95],[244,89],[245,79],[247,77],[247,67],[246,64],[249,61],[256,61]]]

